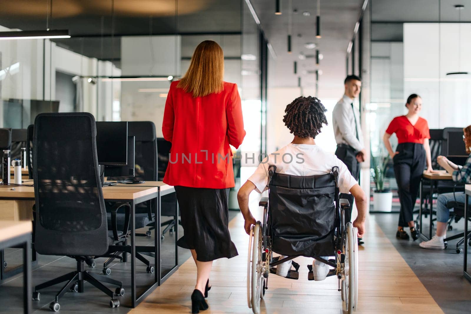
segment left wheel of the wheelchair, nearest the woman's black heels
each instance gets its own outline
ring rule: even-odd
[[[252,228],[249,238],[249,257],[247,263],[247,302],[253,313],[260,313],[262,292],[262,230],[260,222]]]

